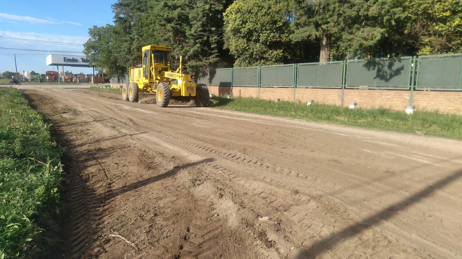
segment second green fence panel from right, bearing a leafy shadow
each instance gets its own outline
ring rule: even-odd
[[[347,88],[409,88],[411,57],[347,61]]]

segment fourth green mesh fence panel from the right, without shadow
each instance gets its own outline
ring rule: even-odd
[[[261,67],[261,86],[293,87],[295,65]]]

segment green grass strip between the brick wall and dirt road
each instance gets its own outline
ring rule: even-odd
[[[350,109],[327,104],[272,100],[213,97],[215,107],[226,110],[328,122],[377,130],[391,130],[416,134],[462,139],[462,116],[438,112],[416,111],[413,114],[389,109]]]

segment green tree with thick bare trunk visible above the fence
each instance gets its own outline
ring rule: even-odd
[[[319,41],[319,61],[395,55],[386,45],[404,17],[395,0],[294,0],[295,41]],[[332,55],[332,50],[334,50]],[[398,51],[399,53],[399,51]]]

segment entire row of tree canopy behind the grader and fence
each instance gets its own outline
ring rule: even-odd
[[[462,0],[118,0],[84,52],[105,74],[172,47],[210,68],[462,52]],[[177,61],[176,61],[177,62]]]

